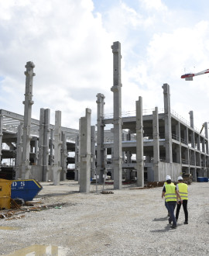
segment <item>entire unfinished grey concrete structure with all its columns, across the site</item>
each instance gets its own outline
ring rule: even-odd
[[[208,126],[200,132],[171,109],[170,85],[163,84],[163,109],[143,109],[142,96],[135,101],[135,112],[122,112],[121,44],[113,43],[113,114],[105,116],[105,95],[97,94],[97,129],[91,126],[91,109],[80,119],[79,130],[61,126],[61,112],[50,124],[50,109],[40,109],[39,120],[32,119],[33,68],[26,64],[24,116],[0,109],[0,176],[53,180],[59,185],[67,175],[67,164],[74,163],[74,179],[81,192],[90,191],[91,178],[103,183],[107,175],[114,189],[122,189],[122,180],[163,181],[171,175],[191,174],[209,177]],[[161,86],[159,86],[160,89]],[[111,125],[111,130],[105,126]],[[70,157],[68,153],[74,154]],[[2,160],[10,159],[10,166]]]

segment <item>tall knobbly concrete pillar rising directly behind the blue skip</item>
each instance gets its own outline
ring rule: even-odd
[[[23,124],[23,135],[22,135],[22,178],[29,178],[29,150],[30,150],[30,127],[31,127],[31,113],[33,105],[33,68],[35,65],[33,62],[28,61],[26,63],[26,92],[25,101],[22,102],[24,106],[24,124]]]

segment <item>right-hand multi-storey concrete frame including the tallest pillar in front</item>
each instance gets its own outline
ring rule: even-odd
[[[113,43],[112,52],[112,117],[105,118],[105,95],[97,95],[98,174],[111,173],[115,189],[122,188],[122,178],[136,178],[137,185],[143,186],[144,181],[163,181],[166,175],[171,175],[173,181],[184,173],[193,175],[194,181],[197,181],[197,176],[208,177],[207,122],[204,123],[203,135],[194,128],[193,111],[190,111],[190,123],[173,112],[170,104],[170,85],[167,84],[163,84],[163,111],[159,112],[156,107],[151,112],[146,112],[142,109],[142,96],[139,96],[135,114],[122,116],[119,42]],[[104,127],[108,124],[114,126],[111,130],[111,140],[104,137]],[[107,154],[101,154],[104,151]]]

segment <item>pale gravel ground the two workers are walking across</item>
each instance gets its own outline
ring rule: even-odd
[[[101,194],[102,187],[96,192],[91,185],[91,193],[86,194],[74,181],[41,184],[38,198],[43,204],[66,205],[21,213],[21,219],[0,219],[0,229],[18,228],[0,231],[1,254],[26,255],[17,250],[39,244],[47,249],[36,255],[209,255],[207,182],[189,185],[189,224],[183,224],[180,209],[175,230],[168,223],[162,187],[124,185],[122,190],[111,190],[113,185],[105,185],[114,194]]]

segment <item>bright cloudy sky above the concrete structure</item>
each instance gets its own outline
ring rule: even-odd
[[[0,109],[24,113],[26,62],[36,65],[32,117],[39,109],[62,112],[62,126],[78,129],[85,109],[97,120],[98,93],[113,112],[111,45],[122,47],[122,112],[171,109],[194,126],[209,122],[209,75],[180,76],[209,68],[207,0],[0,0]]]

